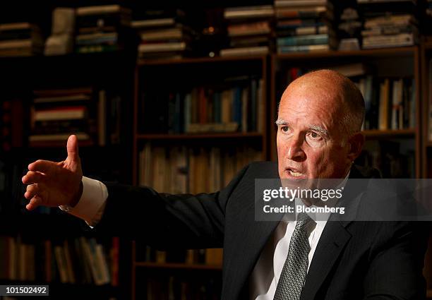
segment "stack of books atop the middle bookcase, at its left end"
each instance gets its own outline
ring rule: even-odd
[[[132,27],[140,36],[140,59],[181,59],[190,50],[193,30],[185,22],[185,13],[146,11],[143,20],[134,20]]]

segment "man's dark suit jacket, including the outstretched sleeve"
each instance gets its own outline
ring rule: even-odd
[[[373,177],[353,168],[351,178]],[[217,193],[168,195],[110,185],[100,232],[157,248],[224,248],[222,299],[248,299],[248,278],[278,222],[254,220],[254,180],[278,178],[277,164],[245,167]],[[301,299],[423,299],[426,236],[407,222],[328,222]]]

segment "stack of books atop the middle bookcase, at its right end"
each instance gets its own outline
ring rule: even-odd
[[[230,42],[229,48],[220,50],[220,56],[268,54],[272,46],[274,14],[273,6],[225,8]]]

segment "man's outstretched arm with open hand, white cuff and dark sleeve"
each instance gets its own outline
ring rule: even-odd
[[[168,195],[152,188],[116,184],[107,184],[104,192],[99,181],[99,187],[94,182],[84,186],[87,179],[83,179],[76,136],[68,138],[67,150],[63,162],[39,160],[29,165],[30,171],[23,176],[23,183],[28,184],[25,198],[30,200],[29,210],[39,205],[66,205],[91,225],[99,213],[102,219],[95,225],[98,232],[143,238],[158,248],[222,246],[227,200],[247,167],[217,193]],[[87,197],[92,188],[100,196]]]

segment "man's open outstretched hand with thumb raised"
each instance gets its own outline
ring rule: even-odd
[[[28,165],[30,171],[23,176],[23,184],[28,184],[24,197],[30,200],[28,210],[39,205],[75,206],[83,193],[83,171],[78,155],[78,139],[69,136],[68,157],[62,162],[37,160]]]

